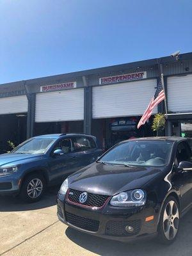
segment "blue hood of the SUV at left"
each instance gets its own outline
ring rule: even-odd
[[[0,155],[0,167],[1,166],[8,166],[13,164],[20,164],[24,161],[34,161],[36,159],[40,159],[42,155],[32,155],[32,154],[2,154]]]

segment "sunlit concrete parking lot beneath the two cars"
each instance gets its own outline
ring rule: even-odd
[[[22,204],[18,198],[0,197],[0,255],[121,255],[182,256],[192,253],[192,211],[180,223],[175,243],[156,241],[120,243],[88,236],[68,228],[56,216],[56,193],[51,188],[42,201]]]

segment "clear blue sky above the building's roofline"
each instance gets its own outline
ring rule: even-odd
[[[191,0],[0,0],[0,83],[192,51]]]

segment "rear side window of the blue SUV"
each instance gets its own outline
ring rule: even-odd
[[[84,151],[96,147],[95,141],[93,141],[92,138],[87,138],[83,136],[74,138],[73,142],[75,152]]]

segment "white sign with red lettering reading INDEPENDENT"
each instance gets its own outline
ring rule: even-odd
[[[120,76],[108,76],[99,78],[99,84],[120,83],[126,81],[141,80],[147,78],[147,71],[123,74]]]

